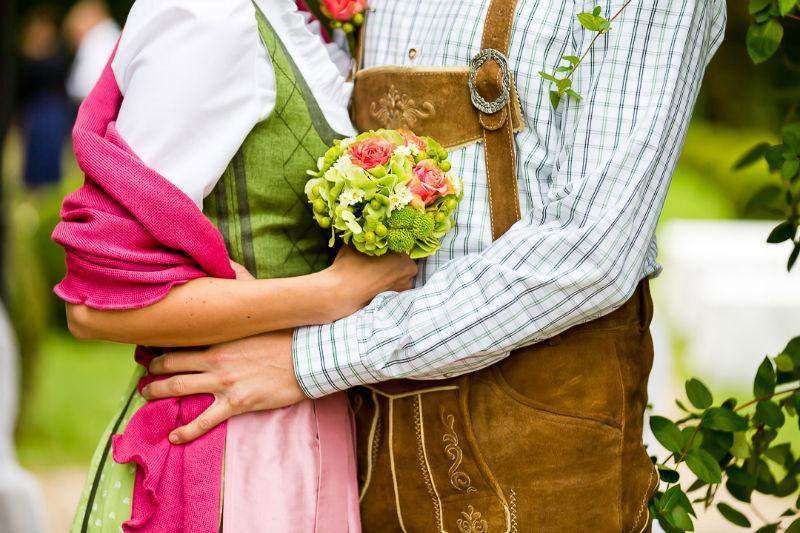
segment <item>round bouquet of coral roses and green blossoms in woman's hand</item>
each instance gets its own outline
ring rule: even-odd
[[[367,255],[413,259],[441,246],[453,227],[461,180],[439,143],[404,130],[377,130],[336,141],[305,187],[314,219]]]

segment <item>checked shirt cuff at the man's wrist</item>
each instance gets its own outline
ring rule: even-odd
[[[333,324],[295,329],[294,372],[306,396],[321,398],[373,381],[363,364],[355,328],[356,317],[351,316]]]

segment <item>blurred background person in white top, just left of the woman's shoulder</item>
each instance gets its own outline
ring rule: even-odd
[[[119,39],[119,24],[102,0],[82,0],[64,19],[64,37],[75,59],[67,78],[67,93],[80,104],[100,77]]]

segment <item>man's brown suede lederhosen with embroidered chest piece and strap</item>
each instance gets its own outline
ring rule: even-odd
[[[470,68],[355,75],[359,130],[482,142],[492,234],[520,218],[520,106],[506,54],[516,0],[492,0]],[[653,350],[646,281],[616,311],[487,369],[351,392],[366,533],[645,531],[657,474],[642,445]]]

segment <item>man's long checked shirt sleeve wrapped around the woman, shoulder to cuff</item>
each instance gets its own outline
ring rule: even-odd
[[[725,25],[722,0],[638,4],[578,71],[584,100],[559,109],[563,148],[544,214],[420,288],[297,329],[295,373],[308,396],[477,370],[632,295]]]

